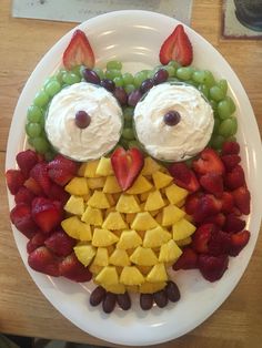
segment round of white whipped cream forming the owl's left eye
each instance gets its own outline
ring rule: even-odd
[[[90,124],[80,129],[75,114],[84,111]],[[46,133],[57,151],[75,161],[101,157],[118,143],[122,131],[122,109],[105,89],[87,82],[74,83],[52,99]]]

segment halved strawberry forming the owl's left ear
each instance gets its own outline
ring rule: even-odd
[[[92,48],[84,32],[80,29],[73,32],[72,39],[63,52],[63,66],[71,70],[77,65],[85,65],[89,69],[94,66]]]

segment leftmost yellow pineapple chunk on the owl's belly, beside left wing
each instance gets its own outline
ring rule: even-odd
[[[72,238],[80,239],[80,235],[85,236],[85,240],[92,239],[90,225],[82,223],[78,216],[71,216],[61,222],[63,231]]]

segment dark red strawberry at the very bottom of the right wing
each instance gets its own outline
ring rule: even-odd
[[[228,255],[199,255],[199,269],[209,282],[219,280],[228,269]]]

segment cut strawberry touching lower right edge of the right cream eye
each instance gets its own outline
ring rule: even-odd
[[[198,174],[216,173],[224,174],[224,164],[220,160],[218,153],[210,147],[204,149],[200,153],[200,158],[193,161],[193,168]]]

